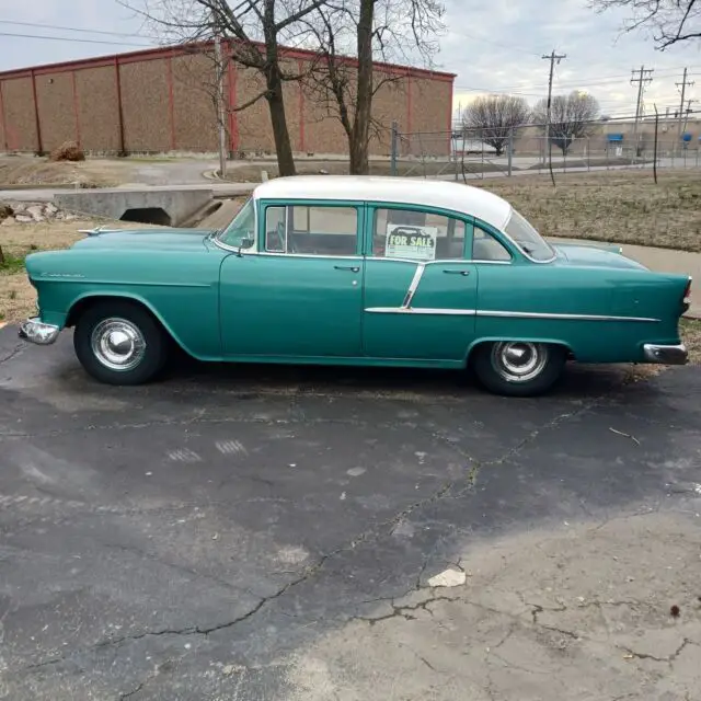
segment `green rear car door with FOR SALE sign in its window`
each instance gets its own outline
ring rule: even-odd
[[[466,219],[368,208],[363,349],[378,358],[462,360],[474,338],[478,269]]]

